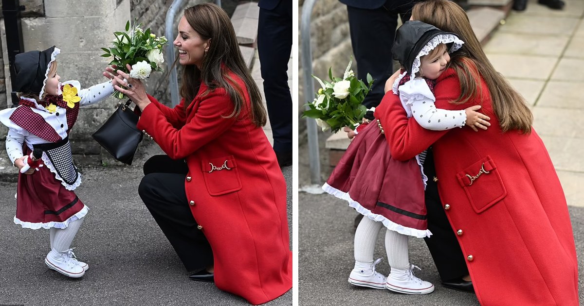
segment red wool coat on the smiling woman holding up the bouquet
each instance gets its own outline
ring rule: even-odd
[[[245,92],[239,118],[224,89],[199,94],[185,115],[185,101],[169,108],[152,102],[142,111],[138,129],[149,133],[172,159],[186,159],[186,195],[213,248],[215,284],[266,303],[292,287],[292,253],[286,214],[286,181],[262,128],[248,118]]]

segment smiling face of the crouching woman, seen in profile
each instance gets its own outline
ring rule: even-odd
[[[180,19],[179,34],[173,42],[179,48],[180,65],[197,65],[200,69],[210,43],[210,39],[203,40],[199,33],[193,30],[185,16]]]

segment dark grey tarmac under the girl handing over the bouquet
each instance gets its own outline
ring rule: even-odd
[[[0,182],[0,305],[249,305],[244,298],[193,282],[138,196],[142,165],[161,154],[154,142],[138,148],[133,166],[85,167],[77,195],[91,209],[72,247],[89,270],[70,279],[50,270],[47,230],[20,228],[15,182]],[[292,239],[292,167],[287,183]],[[16,174],[15,174],[16,175]],[[237,282],[237,279],[234,279]],[[291,305],[292,291],[264,305]]]

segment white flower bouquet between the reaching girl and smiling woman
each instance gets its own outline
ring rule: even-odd
[[[162,47],[168,40],[166,37],[152,34],[150,29],[143,31],[141,24],[134,25],[130,31],[130,20],[126,23],[125,32],[114,32],[116,41],[113,41],[112,48],[102,48],[105,54],[102,57],[113,57],[110,65],[116,65],[117,69],[130,73],[134,79],[145,79],[150,76],[152,70],[162,71],[161,65],[164,63]],[[129,32],[128,32],[129,31]],[[126,65],[132,66],[131,72]],[[124,99],[126,95],[116,90],[114,97]]]

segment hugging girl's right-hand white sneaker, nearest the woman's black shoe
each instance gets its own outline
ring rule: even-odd
[[[413,275],[413,268],[422,270],[418,266],[410,265],[405,272],[391,269],[385,287],[391,291],[405,294],[428,294],[434,291],[434,285]],[[402,273],[400,273],[402,272]]]

